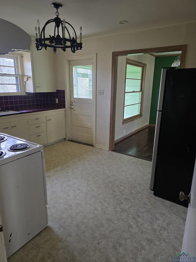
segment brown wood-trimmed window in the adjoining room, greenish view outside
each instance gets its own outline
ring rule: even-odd
[[[146,64],[126,59],[123,123],[142,116]]]

